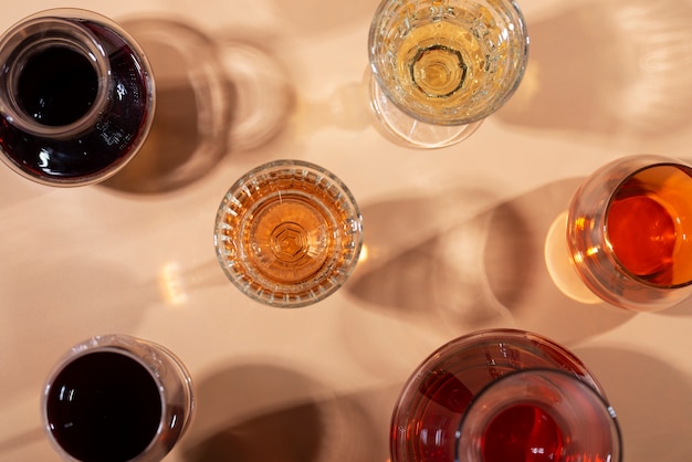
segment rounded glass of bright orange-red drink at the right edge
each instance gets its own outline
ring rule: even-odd
[[[692,291],[692,167],[628,156],[591,174],[567,214],[567,248],[599,298],[654,312]]]

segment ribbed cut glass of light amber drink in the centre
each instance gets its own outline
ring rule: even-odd
[[[229,189],[214,245],[230,281],[276,307],[314,304],[333,294],[356,266],[361,217],[348,188],[302,160],[277,160],[245,174]]]

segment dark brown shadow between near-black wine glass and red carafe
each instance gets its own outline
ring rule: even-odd
[[[388,456],[395,389],[338,396],[296,370],[253,360],[197,381],[185,462],[373,462]]]

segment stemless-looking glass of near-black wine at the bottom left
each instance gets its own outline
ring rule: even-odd
[[[59,360],[42,413],[66,460],[160,461],[192,418],[192,381],[160,345],[126,335],[93,337]]]

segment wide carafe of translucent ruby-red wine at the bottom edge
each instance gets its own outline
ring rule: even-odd
[[[536,334],[481,330],[432,353],[391,420],[392,462],[621,461],[615,411],[570,351]]]

